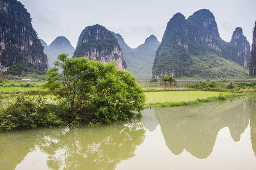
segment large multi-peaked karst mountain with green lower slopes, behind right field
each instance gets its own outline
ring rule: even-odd
[[[157,49],[153,77],[244,77],[249,52],[250,45],[239,27],[230,43],[221,40],[209,10],[199,10],[188,19],[177,13],[168,22]]]

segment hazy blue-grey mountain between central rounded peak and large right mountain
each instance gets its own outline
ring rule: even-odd
[[[150,35],[143,44],[136,49],[129,47],[121,35],[113,33],[122,49],[124,60],[128,65],[128,71],[138,79],[150,79],[152,66],[159,46],[156,36]]]

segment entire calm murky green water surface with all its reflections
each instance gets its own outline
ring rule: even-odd
[[[0,134],[0,169],[256,169],[256,100],[146,109],[100,128]]]

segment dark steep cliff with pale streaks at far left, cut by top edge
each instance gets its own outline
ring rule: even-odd
[[[44,47],[24,6],[17,0],[0,0],[0,15],[0,72],[20,61],[46,71]]]

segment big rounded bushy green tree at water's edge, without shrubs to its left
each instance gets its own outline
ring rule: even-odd
[[[80,123],[111,123],[128,120],[140,113],[145,102],[143,89],[136,77],[117,70],[114,62],[103,65],[87,58],[67,58],[60,54],[54,63],[63,69],[51,68],[45,86],[67,109],[65,120]]]

